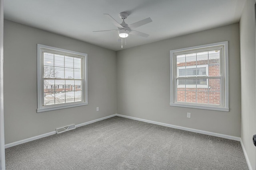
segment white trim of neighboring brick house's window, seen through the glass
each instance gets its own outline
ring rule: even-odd
[[[177,67],[177,75],[179,74],[179,69],[184,69],[184,68],[200,68],[200,67],[206,67],[206,76],[208,76],[208,65],[197,65],[197,66],[182,66],[182,67]],[[179,77],[185,77],[185,76],[179,76]],[[196,77],[195,76],[187,76],[187,77]],[[177,88],[185,88],[185,85],[178,85],[179,80],[177,80]],[[206,82],[206,85],[202,84],[196,84],[196,85],[186,85],[186,88],[210,88],[208,87],[208,80]]]

